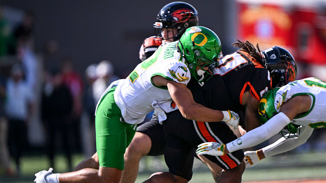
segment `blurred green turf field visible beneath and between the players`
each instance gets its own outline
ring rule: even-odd
[[[73,156],[73,166],[82,161],[82,155]],[[65,159],[62,155],[56,156],[57,163],[53,172],[67,171]],[[49,169],[45,155],[25,156],[22,158],[22,175],[20,177],[0,176],[0,182],[33,182],[34,174],[38,171]],[[136,182],[142,182],[152,173],[167,171],[163,156],[146,156],[141,160],[140,173]],[[199,160],[195,159],[191,183],[213,182],[209,169]],[[301,154],[282,154],[269,159],[264,159],[259,164],[244,171],[243,182],[257,180],[284,180],[303,178],[326,178],[326,152],[309,152]],[[3,173],[3,172],[0,172]]]

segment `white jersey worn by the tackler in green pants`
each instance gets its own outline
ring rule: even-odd
[[[175,41],[161,46],[117,85],[114,100],[127,123],[143,122],[145,115],[154,108],[159,114],[159,121],[163,121],[166,119],[164,112],[177,109],[168,88],[156,86],[151,80],[153,76],[160,75],[171,81],[188,84],[190,71],[185,59],[177,52],[177,43]]]

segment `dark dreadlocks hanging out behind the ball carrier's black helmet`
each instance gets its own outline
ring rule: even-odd
[[[266,60],[264,59],[264,57],[262,56],[262,54],[260,53],[260,49],[257,43],[257,50],[255,48],[255,46],[253,46],[249,41],[246,42],[242,42],[240,40],[237,39],[237,43],[232,43],[232,45],[234,47],[238,47],[240,48],[239,51],[244,51],[246,53],[248,53],[251,57],[253,57],[254,59],[256,59],[262,66],[266,67]]]

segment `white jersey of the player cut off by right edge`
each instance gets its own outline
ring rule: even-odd
[[[309,111],[297,116],[292,123],[311,128],[326,127],[326,83],[317,78],[305,78],[282,86],[276,93],[274,107],[277,112],[290,98],[298,95],[309,95],[311,106]]]

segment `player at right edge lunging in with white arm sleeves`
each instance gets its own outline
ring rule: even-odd
[[[263,158],[294,149],[306,142],[316,128],[326,127],[326,83],[305,78],[274,88],[259,102],[259,121],[263,124],[228,143],[202,143],[198,154],[220,156],[228,152],[258,145],[277,133],[283,137],[256,151],[245,152],[246,167]],[[285,129],[286,131],[282,131]],[[286,133],[286,135],[284,135]]]

